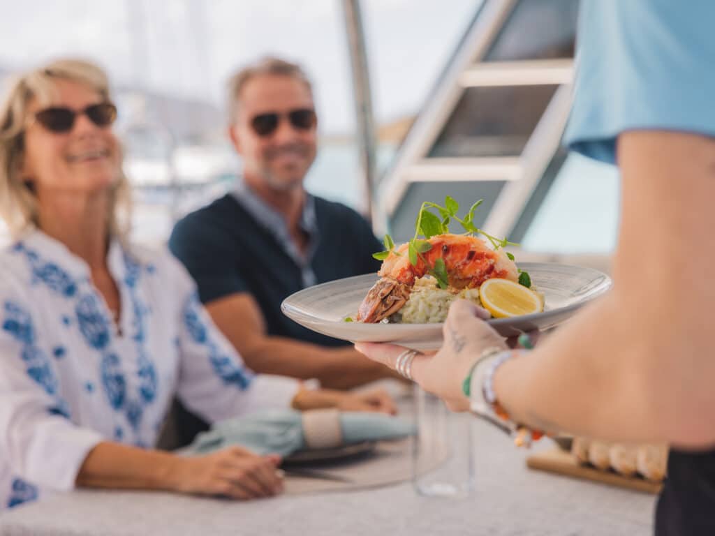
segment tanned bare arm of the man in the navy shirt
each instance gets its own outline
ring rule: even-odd
[[[352,347],[327,348],[285,337],[269,337],[260,307],[247,292],[215,299],[206,304],[206,309],[255,372],[317,378],[322,387],[330,389],[349,389],[394,377],[390,369],[370,361]]]

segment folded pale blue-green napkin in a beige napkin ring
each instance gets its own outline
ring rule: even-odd
[[[207,454],[240,445],[260,455],[287,456],[298,450],[397,440],[415,432],[410,420],[382,413],[271,410],[217,422],[184,452]]]

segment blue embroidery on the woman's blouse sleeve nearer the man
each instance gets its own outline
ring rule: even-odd
[[[253,379],[249,370],[241,367],[232,355],[221,352],[218,345],[209,338],[209,330],[199,314],[201,304],[196,292],[192,292],[184,302],[184,325],[189,337],[209,352],[209,362],[214,372],[227,384],[237,385],[240,389],[247,389]]]

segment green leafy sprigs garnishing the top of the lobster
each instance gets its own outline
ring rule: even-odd
[[[498,239],[493,237],[474,224],[475,211],[482,202],[483,199],[480,199],[473,204],[463,218],[457,215],[459,203],[450,196],[445,197],[444,207],[428,201],[424,202],[420,207],[420,212],[418,212],[417,219],[415,220],[415,236],[408,242],[408,257],[410,258],[410,264],[413,266],[417,266],[418,260],[421,259],[428,267],[427,273],[437,280],[437,284],[441,289],[448,287],[448,274],[445,262],[440,257],[436,259],[434,265],[430,267],[425,257],[423,257],[423,253],[432,249],[432,244],[428,242],[430,238],[438,234],[447,234],[449,232],[449,224],[451,221],[459,222],[465,230],[465,234],[468,236],[481,234],[490,242],[495,250],[500,247],[518,246],[518,244],[508,242],[506,238]],[[438,212],[439,216],[434,212],[430,212],[431,210]],[[424,238],[420,238],[420,236]],[[385,251],[374,253],[373,257],[375,257],[375,259],[382,261],[387,259],[391,252],[398,254],[398,252],[395,251],[395,243],[389,234],[385,234],[383,244],[385,244]],[[513,254],[507,253],[506,256],[514,260]],[[519,283],[523,284],[524,287],[531,287],[531,277],[529,277],[529,274],[519,270]]]

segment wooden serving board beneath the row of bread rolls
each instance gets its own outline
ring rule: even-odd
[[[624,477],[612,471],[601,471],[589,465],[581,465],[571,452],[559,448],[531,455],[526,459],[526,465],[538,471],[554,472],[558,475],[593,480],[593,482],[627,487],[629,490],[646,493],[658,494],[663,487],[662,482],[651,482],[638,476]]]

